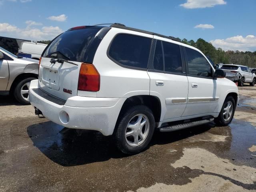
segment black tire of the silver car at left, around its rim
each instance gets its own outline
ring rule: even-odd
[[[29,90],[29,86],[30,86],[30,81],[32,81],[34,79],[36,79],[36,78],[32,78],[32,77],[26,78],[16,85],[16,87],[14,89],[14,97],[21,104],[24,104],[24,105],[30,104],[28,90]],[[21,93],[21,90],[23,90],[24,94]],[[26,94],[26,92],[27,92],[27,94]]]

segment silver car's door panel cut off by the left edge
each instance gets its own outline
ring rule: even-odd
[[[8,62],[5,59],[0,60],[0,91],[5,91],[9,81]]]

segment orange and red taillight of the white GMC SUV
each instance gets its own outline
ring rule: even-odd
[[[92,64],[82,63],[79,72],[78,90],[99,91],[100,74]]]

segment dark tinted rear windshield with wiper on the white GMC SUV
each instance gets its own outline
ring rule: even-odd
[[[43,57],[85,62],[86,51],[90,49],[90,44],[100,29],[85,28],[66,31],[48,46]]]

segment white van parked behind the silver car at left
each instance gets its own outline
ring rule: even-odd
[[[18,50],[18,56],[39,60],[47,44],[37,42],[22,42]]]

